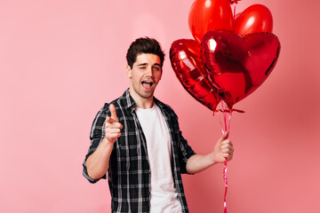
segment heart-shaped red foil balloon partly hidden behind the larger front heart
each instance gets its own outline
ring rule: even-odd
[[[180,39],[170,49],[172,68],[184,89],[197,101],[215,110],[220,98],[207,80],[200,60],[200,44],[191,39]]]

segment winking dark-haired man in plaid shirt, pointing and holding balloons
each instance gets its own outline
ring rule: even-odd
[[[212,153],[196,154],[182,137],[172,108],[154,97],[164,64],[160,44],[139,38],[126,58],[130,88],[96,115],[84,177],[95,183],[108,173],[112,212],[188,212],[181,173],[231,160],[228,133]]]

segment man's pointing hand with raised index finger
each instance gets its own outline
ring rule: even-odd
[[[123,125],[119,122],[116,116],[116,107],[113,104],[110,104],[109,110],[111,113],[111,117],[107,117],[105,131],[108,142],[115,143],[116,138],[121,136],[121,129],[123,129]]]

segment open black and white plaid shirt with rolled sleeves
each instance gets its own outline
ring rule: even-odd
[[[155,103],[164,114],[172,138],[172,177],[174,187],[181,202],[182,212],[188,212],[187,201],[183,190],[181,173],[187,173],[186,164],[195,152],[188,146],[181,135],[178,117],[170,106],[155,98]],[[110,104],[116,106],[116,115],[124,128],[121,137],[117,138],[112,150],[108,168],[108,185],[112,197],[112,212],[149,212],[150,209],[150,167],[146,138],[135,114],[135,103],[129,90]],[[111,116],[105,104],[96,115],[91,130],[91,146],[84,160],[84,177],[91,183],[99,179],[89,177],[86,170],[87,158],[96,150],[105,137],[106,117]],[[170,166],[170,165],[168,165]],[[104,175],[101,178],[107,178]]]

